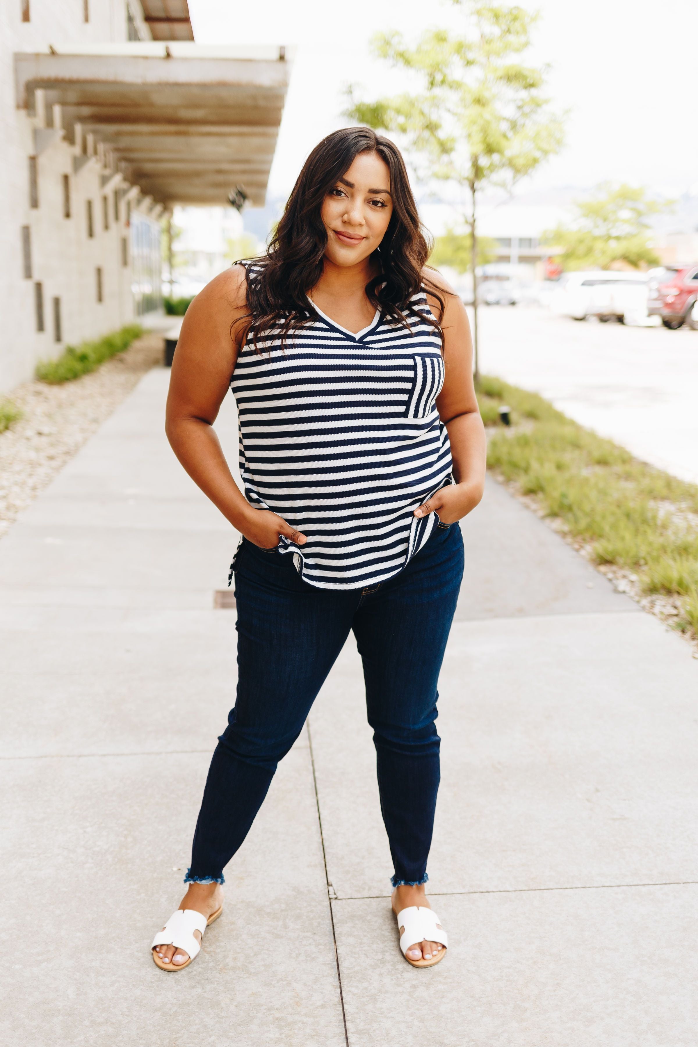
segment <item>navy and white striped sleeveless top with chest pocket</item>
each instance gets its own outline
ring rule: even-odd
[[[278,551],[317,588],[358,589],[397,575],[438,518],[413,510],[452,483],[436,410],[444,383],[438,332],[422,290],[408,330],[376,313],[353,334],[314,305],[317,319],[284,349],[247,336],[232,374],[245,496],[308,538]]]

